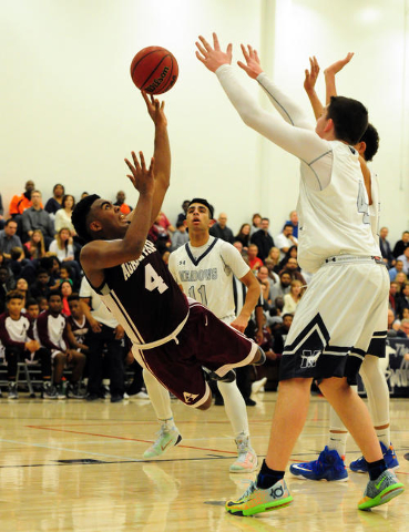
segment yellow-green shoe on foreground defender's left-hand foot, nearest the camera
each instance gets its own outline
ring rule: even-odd
[[[269,512],[292,504],[293,497],[289,493],[284,479],[276,482],[267,490],[257,488],[252,482],[248,489],[237,501],[227,501],[226,511],[233,515],[254,515],[255,513]]]

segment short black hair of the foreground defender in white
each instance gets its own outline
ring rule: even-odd
[[[357,144],[368,127],[366,106],[351,98],[331,96],[327,119],[334,122],[335,136],[348,144]]]

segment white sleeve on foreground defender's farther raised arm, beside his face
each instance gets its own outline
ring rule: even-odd
[[[262,72],[257,78],[257,82],[286,122],[304,130],[314,130],[314,124],[305,115],[301,108],[284,94],[284,92],[267,78],[267,74]]]

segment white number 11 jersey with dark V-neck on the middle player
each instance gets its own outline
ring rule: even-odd
[[[232,244],[213,236],[201,247],[186,243],[171,253],[168,268],[186,296],[224,321],[235,318],[233,276],[241,279],[249,267]]]

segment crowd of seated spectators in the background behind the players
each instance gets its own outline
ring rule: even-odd
[[[84,195],[86,192],[81,198]],[[119,191],[114,205],[127,215],[132,207],[125,201],[125,193]],[[24,192],[12,197],[10,216],[6,218],[0,195],[0,352],[8,362],[10,397],[18,395],[16,360],[41,362],[44,397],[68,393],[94,400],[106,393],[103,377],[108,376],[111,400],[120,401],[125,393],[125,361],[133,365],[135,372],[132,392],[141,392],[141,370],[129,356],[123,328],[104,313],[83,277],[79,263],[82,243],[71,222],[74,206],[74,196],[58,183],[44,207],[41,192],[33,181],[28,181]],[[166,264],[170,253],[188,242],[184,225],[187,207],[185,200],[174,225],[161,212],[150,229],[149,238]],[[227,214],[219,213],[211,235],[232,243],[258,279],[264,299],[263,347],[268,360],[277,364],[310,279],[297,262],[297,213],[289,213],[277,235],[272,235],[268,217],[259,213],[244,221],[236,234],[227,222]],[[408,338],[409,232],[405,231],[391,246],[388,228],[382,227],[379,244],[390,276],[388,336]],[[260,340],[260,335],[254,336]],[[62,391],[67,366],[73,377],[68,391]],[[88,377],[85,391],[79,388],[83,376]]]

